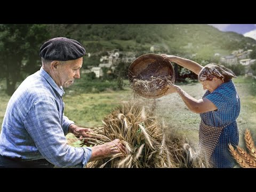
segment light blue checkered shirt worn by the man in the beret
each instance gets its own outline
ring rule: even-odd
[[[65,115],[62,87],[41,68],[23,81],[6,109],[0,154],[22,159],[45,158],[59,167],[85,167],[90,147],[67,144],[70,121]]]

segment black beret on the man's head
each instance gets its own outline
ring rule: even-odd
[[[56,37],[45,42],[39,55],[46,60],[68,61],[83,57],[85,49],[81,43],[66,37]]]

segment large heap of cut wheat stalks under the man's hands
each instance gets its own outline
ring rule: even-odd
[[[119,139],[127,151],[113,157],[88,162],[87,168],[199,168],[211,167],[183,135],[165,125],[155,116],[156,103],[130,101],[116,107],[103,120],[103,126],[91,127],[95,138],[88,139],[91,147]],[[168,131],[167,131],[168,130]],[[74,134],[67,136],[68,145],[83,147]],[[86,147],[86,146],[84,146]]]

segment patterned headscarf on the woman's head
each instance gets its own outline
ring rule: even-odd
[[[198,81],[211,81],[213,77],[220,79],[231,79],[236,75],[230,69],[216,63],[210,63],[206,65],[198,74]]]

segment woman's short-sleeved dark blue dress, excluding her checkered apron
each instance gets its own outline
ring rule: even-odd
[[[211,161],[214,167],[234,167],[235,160],[228,150],[228,143],[237,146],[239,141],[236,119],[240,113],[240,99],[235,85],[230,80],[212,93],[206,91],[203,98],[209,99],[218,109],[200,114],[202,121],[214,127],[227,125],[211,155]]]

